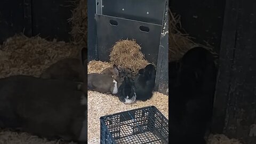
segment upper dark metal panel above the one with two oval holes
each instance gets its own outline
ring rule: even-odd
[[[162,25],[166,0],[96,0],[97,14]]]

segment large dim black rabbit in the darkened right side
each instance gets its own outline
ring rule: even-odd
[[[205,144],[217,74],[213,55],[194,47],[183,55],[177,71],[177,81],[169,85],[169,140],[173,144]]]

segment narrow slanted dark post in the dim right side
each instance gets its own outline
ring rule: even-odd
[[[234,47],[236,39],[237,4],[235,0],[226,2],[222,38],[219,54],[219,71],[213,108],[213,132],[222,133],[225,125],[230,81],[233,78]]]

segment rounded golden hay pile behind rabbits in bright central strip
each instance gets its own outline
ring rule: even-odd
[[[109,56],[111,63],[130,69],[133,74],[137,74],[139,69],[145,68],[149,63],[134,39],[116,42]]]

